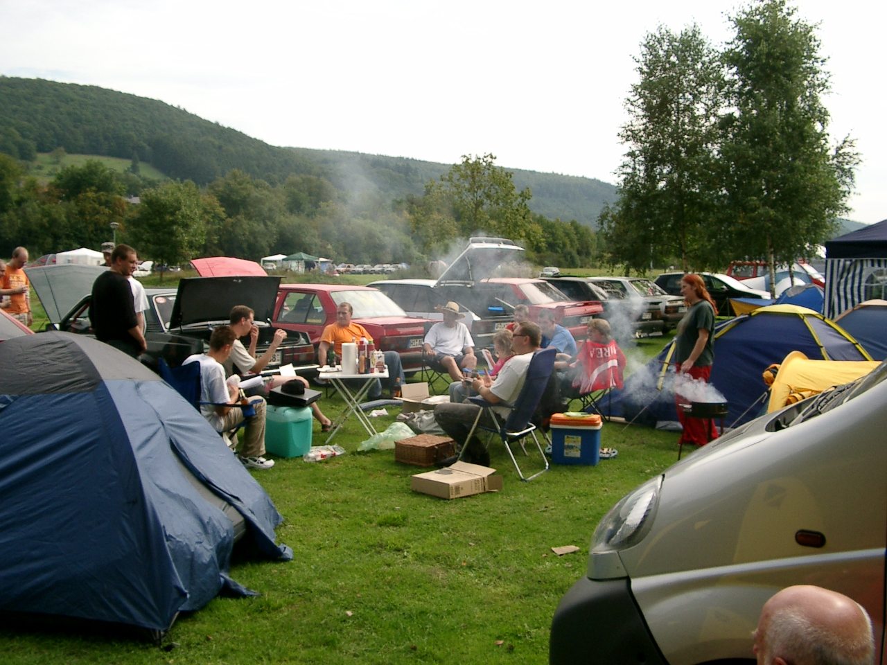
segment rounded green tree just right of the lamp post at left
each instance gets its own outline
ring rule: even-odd
[[[126,238],[140,255],[173,265],[200,254],[207,229],[224,216],[215,197],[190,180],[169,182],[142,192]]]

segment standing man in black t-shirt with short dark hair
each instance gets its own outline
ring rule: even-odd
[[[129,245],[114,247],[111,270],[103,272],[92,284],[90,303],[90,321],[96,338],[134,358],[147,348],[130,287],[130,275],[137,265],[135,249]]]

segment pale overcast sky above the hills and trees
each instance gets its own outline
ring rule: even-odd
[[[732,33],[732,0],[676,3],[0,0],[0,74],[160,99],[272,145],[454,163],[493,153],[610,183],[645,34]],[[857,140],[851,219],[887,218],[885,5],[805,0],[829,134]]]

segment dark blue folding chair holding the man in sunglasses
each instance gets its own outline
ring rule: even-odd
[[[555,348],[545,348],[541,351],[537,351],[532,357],[530,360],[530,366],[527,367],[527,378],[524,379],[521,394],[517,396],[517,399],[511,406],[511,412],[508,414],[505,422],[501,421],[497,412],[492,408],[493,406],[503,406],[503,404],[492,404],[484,400],[482,397],[468,398],[469,402],[481,407],[481,411],[477,412],[477,418],[475,418],[475,423],[471,427],[471,431],[468,433],[466,441],[471,441],[471,437],[478,429],[483,429],[485,432],[498,435],[499,439],[505,444],[505,448],[508,451],[508,457],[511,458],[514,468],[517,470],[517,474],[521,477],[522,481],[529,482],[536,478],[536,476],[548,471],[548,459],[546,458],[545,449],[539,442],[536,434],[537,427],[533,424],[532,419],[536,413],[539,400],[542,399],[542,395],[546,390],[548,379],[551,377],[554,369],[554,356],[556,353],[557,349]],[[487,413],[491,422],[493,422],[495,426],[485,426],[481,423],[481,418],[483,417],[484,412]],[[533,437],[533,442],[536,443],[539,456],[542,458],[543,462],[545,462],[545,468],[533,473],[529,477],[525,477],[521,471],[521,465],[517,463],[517,458],[514,457],[514,452],[511,450],[511,444],[514,442],[520,442],[523,454],[527,455],[524,439],[528,434]],[[547,443],[548,441],[545,432],[542,432],[542,437]],[[462,450],[459,451],[459,458],[462,457],[466,449],[467,445],[462,446]]]

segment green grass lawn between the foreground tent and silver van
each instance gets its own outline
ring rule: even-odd
[[[644,360],[665,341],[628,352]],[[334,416],[343,403],[328,396],[322,406]],[[389,409],[376,428],[395,415]],[[322,436],[315,423],[315,445]],[[167,650],[104,626],[8,620],[4,663],[546,662],[554,608],[585,573],[594,526],[677,458],[676,434],[606,423],[601,442],[616,458],[554,465],[525,483],[494,445],[504,489],[444,501],[413,493],[421,469],[396,463],[393,450],[358,452],[365,438],[351,419],[334,440],[348,451],[341,458],[281,458],[252,472],[286,518],[279,540],[295,552],[287,563],[235,561],[232,577],[261,597],[218,598],[179,617]],[[580,551],[551,551],[567,544]]]

